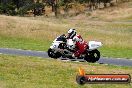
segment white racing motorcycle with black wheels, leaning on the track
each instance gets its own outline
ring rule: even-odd
[[[96,62],[100,59],[100,52],[97,48],[102,46],[101,42],[89,41],[88,48],[84,53],[77,57],[77,59],[84,59],[87,62]],[[72,54],[76,51],[76,46],[72,39],[67,39],[65,35],[57,37],[50,48],[48,49],[48,56],[51,58],[69,58],[73,59]]]

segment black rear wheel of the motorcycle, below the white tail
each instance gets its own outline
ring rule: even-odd
[[[100,59],[100,52],[96,49],[87,53],[86,57],[84,58],[87,62],[95,63]]]

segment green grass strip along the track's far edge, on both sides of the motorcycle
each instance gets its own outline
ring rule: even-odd
[[[47,51],[51,45],[50,41],[40,41],[33,39],[14,38],[14,37],[0,37],[0,47],[3,48],[16,48],[24,50],[38,50]],[[100,49],[103,57],[116,57],[127,58],[132,57],[132,49],[123,47],[107,47],[103,46]]]

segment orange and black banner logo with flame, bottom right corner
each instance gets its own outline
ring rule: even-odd
[[[79,68],[79,74],[76,76],[76,82],[80,85],[100,84],[100,83],[130,83],[131,76],[129,74],[85,74],[84,69]]]

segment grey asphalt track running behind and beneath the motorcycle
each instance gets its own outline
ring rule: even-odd
[[[31,50],[21,50],[21,49],[11,49],[11,48],[0,48],[0,54],[11,54],[19,56],[35,56],[42,58],[49,58],[47,52],[45,51],[31,51]],[[67,58],[60,58],[61,60],[69,60]],[[75,61],[75,59],[74,59]],[[76,61],[84,61],[83,59],[77,59]],[[132,59],[121,59],[121,58],[106,58],[101,57],[97,62],[100,64],[111,64],[120,66],[132,66]]]

